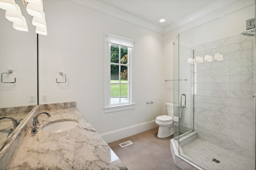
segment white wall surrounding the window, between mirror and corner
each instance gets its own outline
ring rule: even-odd
[[[163,35],[70,0],[44,0],[44,12],[48,35],[39,36],[39,95],[47,94],[48,101],[40,97],[40,104],[76,101],[100,134],[162,115]],[[104,32],[135,40],[134,109],[104,113]],[[60,71],[67,83],[56,83]],[[131,133],[138,132],[126,135]]]

